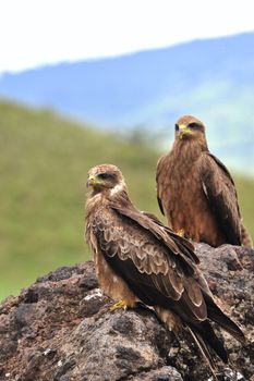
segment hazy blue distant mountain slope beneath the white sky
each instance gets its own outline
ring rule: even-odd
[[[254,33],[4,74],[0,96],[101,127],[149,128],[167,146],[184,113],[205,121],[213,151],[254,173]]]

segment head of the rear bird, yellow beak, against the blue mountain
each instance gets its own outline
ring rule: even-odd
[[[177,139],[204,138],[205,126],[195,116],[181,116],[174,124]]]

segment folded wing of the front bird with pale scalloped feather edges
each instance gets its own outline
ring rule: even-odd
[[[101,254],[142,302],[171,308],[184,321],[205,320],[206,304],[193,276],[194,262],[176,239],[169,242],[166,232],[159,233],[159,225],[150,230],[153,223],[134,208],[114,206],[99,213],[93,226]]]

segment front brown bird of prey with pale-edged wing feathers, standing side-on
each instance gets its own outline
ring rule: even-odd
[[[133,206],[117,167],[93,168],[87,184],[85,235],[105,294],[118,307],[154,307],[174,333],[189,329],[211,368],[213,351],[227,362],[209,320],[241,342],[244,335],[215,304],[192,244]]]

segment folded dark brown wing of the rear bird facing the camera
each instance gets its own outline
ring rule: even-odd
[[[219,226],[232,245],[241,245],[241,216],[233,180],[227,168],[204,152],[197,161],[203,190]]]

